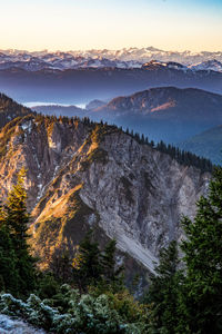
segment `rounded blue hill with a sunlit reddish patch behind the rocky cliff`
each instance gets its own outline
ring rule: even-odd
[[[143,132],[150,139],[174,145],[222,124],[222,96],[194,88],[151,88],[114,98],[108,104],[97,101],[94,108],[89,106],[88,109],[73,106],[39,106],[33,109],[57,116],[103,119]]]

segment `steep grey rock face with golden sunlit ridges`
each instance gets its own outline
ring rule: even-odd
[[[180,217],[194,215],[210,177],[89,120],[30,115],[4,127],[0,140],[2,196],[16,173],[28,169],[31,244],[42,267],[57,247],[73,249],[93,226],[101,243],[115,238],[121,252],[153,272],[160,248],[181,237]]]

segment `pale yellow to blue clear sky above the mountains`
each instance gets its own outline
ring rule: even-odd
[[[2,50],[222,50],[222,0],[0,0],[0,8]]]

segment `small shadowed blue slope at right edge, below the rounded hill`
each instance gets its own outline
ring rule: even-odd
[[[222,126],[201,132],[184,143],[181,149],[190,150],[198,156],[211,159],[214,164],[222,164]]]

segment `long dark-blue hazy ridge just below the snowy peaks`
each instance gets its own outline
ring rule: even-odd
[[[27,65],[26,65],[27,66]],[[84,67],[75,69],[43,68],[30,71],[22,68],[0,70],[0,91],[20,102],[46,101],[65,105],[110,100],[153,87],[174,86],[199,88],[222,94],[222,72],[211,61],[196,70],[178,62],[150,61],[141,68]],[[209,65],[210,68],[210,65]]]

